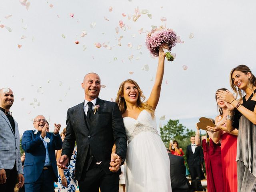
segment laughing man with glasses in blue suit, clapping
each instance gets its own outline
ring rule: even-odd
[[[54,132],[47,132],[49,124],[42,115],[34,118],[34,130],[22,136],[22,148],[26,152],[24,163],[25,191],[52,192],[58,181],[55,150],[62,148],[60,124],[54,124]]]

